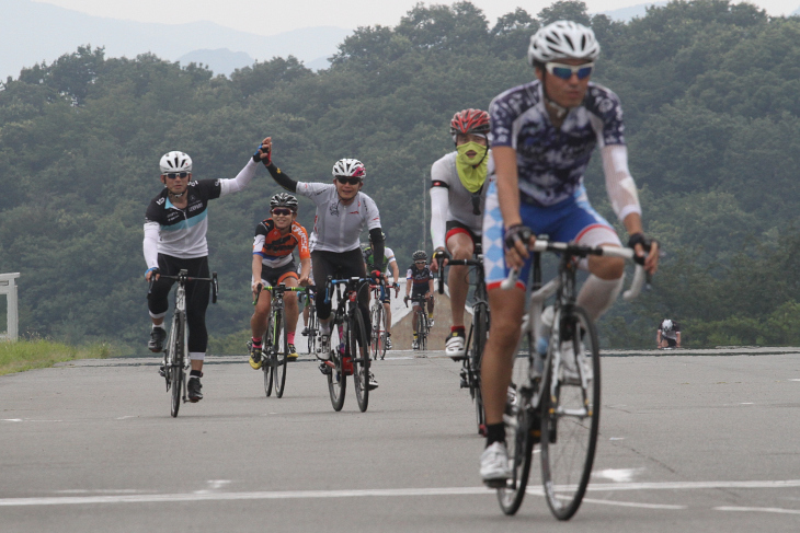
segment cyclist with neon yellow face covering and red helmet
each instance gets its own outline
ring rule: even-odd
[[[450,135],[456,150],[431,167],[431,235],[434,254],[431,270],[447,264],[438,256],[469,259],[480,243],[483,208],[487,199],[487,176],[494,173],[489,149],[489,114],[481,109],[464,109],[453,116]],[[449,254],[447,254],[449,253]],[[445,341],[445,352],[462,356],[465,346],[464,310],[469,291],[467,266],[450,267],[447,287],[450,292],[453,326]]]

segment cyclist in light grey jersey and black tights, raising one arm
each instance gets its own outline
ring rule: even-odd
[[[331,352],[331,302],[325,303],[325,280],[328,276],[366,277],[364,257],[358,237],[362,230],[369,229],[376,264],[384,262],[384,235],[380,230],[380,213],[375,201],[362,193],[366,169],[355,159],[341,159],[333,164],[333,183],[296,182],[272,162],[272,138],[264,140],[264,149],[270,154],[264,164],[273,179],[285,189],[305,196],[317,206],[313,232],[313,278],[318,281],[315,299],[317,317],[320,323],[320,346],[317,357],[327,361]],[[379,277],[379,271],[372,273]],[[358,306],[364,317],[367,338],[372,335],[369,324],[369,286],[364,285],[358,293]],[[324,364],[320,370],[329,372]],[[369,387],[376,389],[378,382],[369,372]]]

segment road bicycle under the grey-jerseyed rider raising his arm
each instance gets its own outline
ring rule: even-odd
[[[369,405],[369,335],[358,306],[358,293],[368,290],[370,281],[372,278],[328,277],[324,301],[329,303],[335,292],[336,310],[331,320],[330,359],[323,366],[331,404],[336,412],[342,410],[344,405],[347,375],[353,376],[358,409],[364,413]],[[382,278],[380,283],[384,283]]]

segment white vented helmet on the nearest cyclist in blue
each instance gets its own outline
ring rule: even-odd
[[[556,21],[540,27],[530,37],[528,65],[558,59],[591,59],[599,57],[599,44],[591,27],[572,21]]]

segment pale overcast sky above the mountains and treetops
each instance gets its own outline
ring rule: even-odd
[[[377,24],[393,26],[419,0],[35,0],[96,16],[139,22],[185,23],[213,21],[235,30],[274,35],[298,27],[355,28]],[[628,8],[644,0],[584,0],[590,13]],[[452,4],[454,0],[426,1]],[[517,7],[535,15],[552,0],[472,0],[490,23]],[[789,14],[800,0],[754,0],[772,15]]]

